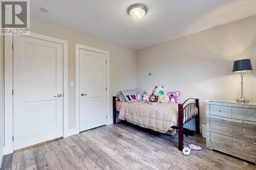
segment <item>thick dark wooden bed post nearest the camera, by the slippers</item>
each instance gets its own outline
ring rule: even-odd
[[[179,150],[183,149],[183,104],[178,104]]]

